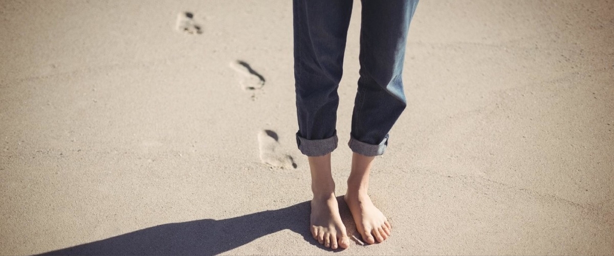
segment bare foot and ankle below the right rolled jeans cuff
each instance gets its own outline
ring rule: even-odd
[[[375,157],[352,156],[352,171],[348,178],[348,192],[343,197],[356,222],[356,229],[363,241],[373,244],[383,242],[390,236],[392,226],[386,216],[373,205],[367,194],[369,173]]]

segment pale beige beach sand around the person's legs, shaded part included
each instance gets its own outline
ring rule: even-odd
[[[333,254],[308,231],[290,1],[0,1],[0,24],[0,254]],[[335,255],[614,254],[612,0],[422,1],[404,80],[371,181],[393,235]]]

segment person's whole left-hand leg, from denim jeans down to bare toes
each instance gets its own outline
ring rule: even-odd
[[[347,248],[330,170],[337,146],[337,88],[343,72],[352,0],[294,0],[294,70],[297,145],[311,170],[311,233],[326,247]]]

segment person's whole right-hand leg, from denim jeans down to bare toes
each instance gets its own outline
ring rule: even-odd
[[[417,3],[362,0],[360,79],[348,143],[354,154],[344,199],[357,230],[368,244],[381,243],[392,228],[368,196],[369,173],[375,156],[386,149],[388,132],[406,107],[403,59]]]

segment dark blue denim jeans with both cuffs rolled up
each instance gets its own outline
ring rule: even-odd
[[[418,0],[362,0],[360,78],[349,147],[379,156],[406,107],[403,59]],[[324,156],[337,147],[337,88],[352,0],[293,0],[294,78],[298,149]]]

